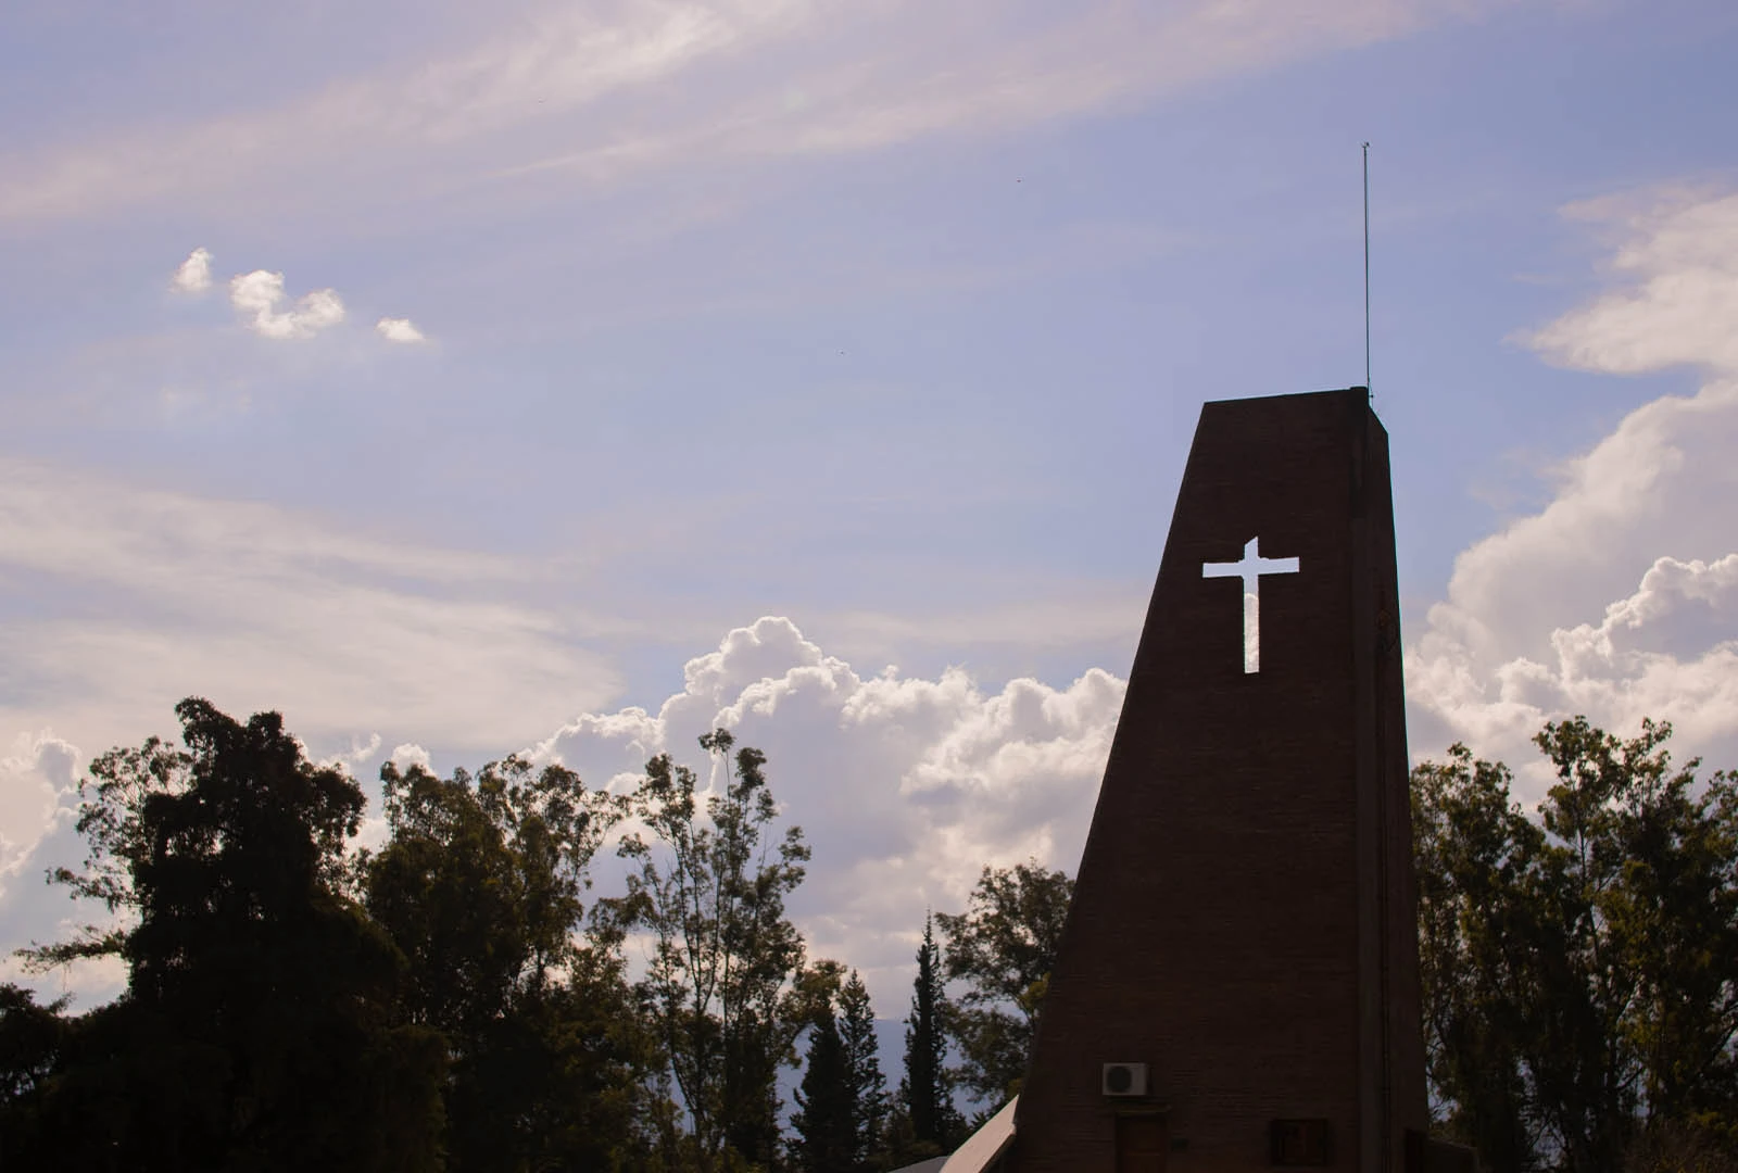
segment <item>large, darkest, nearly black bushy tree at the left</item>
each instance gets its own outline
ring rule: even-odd
[[[438,1161],[440,1039],[396,1022],[403,956],[341,890],[363,810],[276,712],[176,706],[90,766],[83,872],[52,876],[134,918],[28,951],[118,954],[127,994],[73,1022],[42,1135],[73,1168],[422,1170]]]

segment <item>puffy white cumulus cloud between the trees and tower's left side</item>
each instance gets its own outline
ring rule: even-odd
[[[965,907],[985,864],[1074,871],[1123,692],[1100,669],[996,690],[958,667],[864,674],[765,617],[688,660],[655,712],[587,712],[530,752],[624,789],[659,752],[700,765],[714,726],[766,751],[773,794],[815,850],[793,912],[813,952],[864,970],[892,1011],[926,907]]]

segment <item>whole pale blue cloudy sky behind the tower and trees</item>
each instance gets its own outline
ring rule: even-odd
[[[370,792],[723,725],[902,1015],[926,907],[1078,862],[1201,403],[1364,382],[1366,141],[1413,758],[1738,766],[1735,57],[1722,0],[7,5],[0,949],[188,695]]]

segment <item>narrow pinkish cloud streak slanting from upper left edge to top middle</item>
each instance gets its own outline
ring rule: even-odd
[[[450,155],[779,35],[817,7],[805,0],[631,0],[608,14],[549,7],[481,47],[335,83],[275,109],[7,160],[0,174],[14,179],[0,181],[0,221],[83,215],[261,181],[283,188],[332,165],[375,170],[407,156]]]

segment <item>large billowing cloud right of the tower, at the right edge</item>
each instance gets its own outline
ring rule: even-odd
[[[1545,509],[1460,554],[1408,648],[1415,747],[1458,737],[1521,765],[1545,719],[1632,732],[1653,716],[1738,765],[1738,198],[1662,189],[1573,214],[1618,236],[1618,288],[1531,342],[1590,370],[1710,379],[1630,412],[1559,471]],[[1536,799],[1543,773],[1526,777]]]

